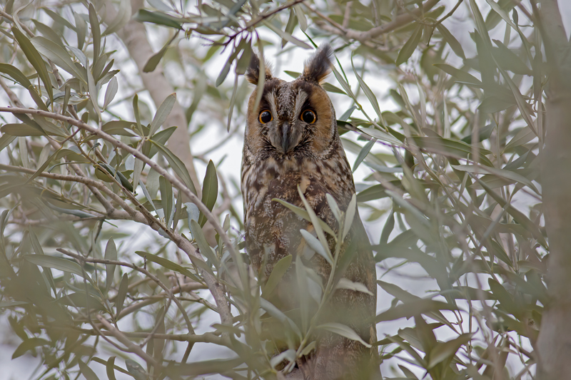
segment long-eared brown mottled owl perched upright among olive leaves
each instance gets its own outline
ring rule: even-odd
[[[331,71],[332,58],[333,49],[327,44],[321,46],[305,62],[303,73],[291,82],[274,78],[268,64],[264,65],[265,72],[260,73],[260,59],[256,54],[246,71],[246,79],[256,85],[261,75],[265,76],[258,108],[254,108],[257,88],[248,101],[244,137],[241,190],[246,250],[262,284],[276,262],[293,255],[292,265],[276,290],[269,295],[263,294],[291,316],[299,309],[300,294],[308,292],[308,289],[298,287],[297,258],[300,257],[304,267],[315,272],[313,278],[322,288],[328,281],[331,267],[323,256],[310,249],[300,233],[303,229],[315,235],[313,225],[275,199],[303,208],[299,188],[315,214],[336,234],[339,224],[326,195],[330,194],[340,210],[345,211],[355,194],[353,175],[337,130],[335,110],[321,87]],[[327,239],[330,252],[335,252],[334,238],[327,235]],[[336,289],[325,304],[326,311],[320,312],[317,324],[345,324],[363,341],[373,343],[376,341],[375,324],[371,322],[376,305],[375,262],[358,215],[355,215],[339,255],[335,279],[345,277],[365,284],[369,292]],[[298,360],[296,369],[289,375],[291,378],[380,378],[375,346],[368,349],[355,340],[323,331],[315,334],[315,342],[315,351]],[[276,347],[278,351],[287,348]]]

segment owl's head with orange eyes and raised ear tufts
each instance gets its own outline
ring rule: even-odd
[[[266,67],[266,81],[258,108],[256,90],[248,101],[244,149],[258,158],[319,158],[327,155],[339,139],[335,110],[321,83],[331,72],[333,49],[322,45],[305,61],[303,73],[294,81],[274,78]],[[246,79],[258,84],[260,58],[253,54]]]

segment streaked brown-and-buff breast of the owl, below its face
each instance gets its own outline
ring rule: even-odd
[[[243,168],[246,250],[255,269],[259,270],[261,263],[267,260],[266,272],[269,274],[282,257],[304,252],[305,240],[299,230],[313,231],[313,226],[274,200],[285,200],[303,208],[298,186],[315,214],[337,230],[326,194],[333,195],[344,210],[354,190],[352,178],[344,179],[332,171],[335,168],[307,159],[268,158],[258,165]]]

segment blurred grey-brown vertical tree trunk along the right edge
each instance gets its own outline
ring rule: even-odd
[[[542,152],[550,302],[537,339],[537,379],[552,380],[571,374],[571,60],[556,0],[542,1],[540,21],[550,70]]]

